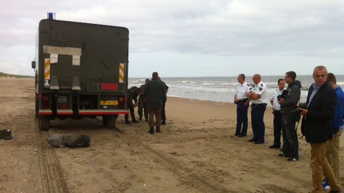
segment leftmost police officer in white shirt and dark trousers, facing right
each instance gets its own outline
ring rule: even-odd
[[[245,75],[240,74],[238,76],[238,82],[240,83],[237,87],[234,96],[234,103],[237,104],[237,126],[235,131],[235,136],[245,137],[247,135],[247,112],[249,101],[246,96],[250,92],[251,86],[245,82]],[[243,126],[241,129],[241,125]]]

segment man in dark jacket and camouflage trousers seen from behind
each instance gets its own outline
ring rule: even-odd
[[[153,72],[152,79],[144,87],[144,94],[147,95],[149,133],[154,134],[154,115],[156,132],[160,133],[162,99],[166,90],[164,83],[159,80],[158,72]]]

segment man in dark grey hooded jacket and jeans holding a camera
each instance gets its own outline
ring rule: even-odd
[[[286,73],[286,83],[288,83],[288,94],[285,99],[281,98],[282,113],[282,136],[283,136],[283,154],[282,157],[289,157],[288,161],[299,160],[299,141],[295,130],[295,122],[298,115],[291,111],[296,109],[301,95],[301,82],[296,79],[296,73],[289,71]]]

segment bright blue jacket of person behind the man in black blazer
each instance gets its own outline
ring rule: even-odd
[[[340,127],[344,125],[344,92],[340,86],[334,89],[337,93],[337,105],[336,112],[334,113],[333,123],[333,135],[335,135]]]

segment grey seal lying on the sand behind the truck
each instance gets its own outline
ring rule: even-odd
[[[48,138],[48,143],[54,147],[89,147],[91,140],[84,134],[56,134]]]

